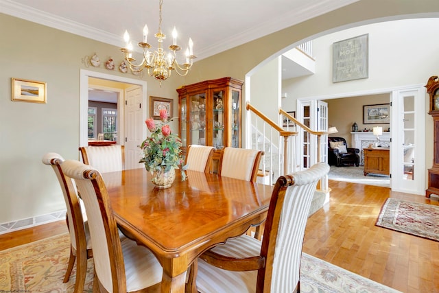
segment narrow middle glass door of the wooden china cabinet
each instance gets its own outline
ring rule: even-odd
[[[213,91],[213,147],[217,150],[224,148],[224,91]]]

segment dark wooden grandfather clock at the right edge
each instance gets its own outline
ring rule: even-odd
[[[427,93],[430,99],[429,115],[433,117],[434,141],[433,141],[433,166],[428,169],[428,188],[425,196],[439,195],[439,80],[438,76],[431,76],[427,85]]]

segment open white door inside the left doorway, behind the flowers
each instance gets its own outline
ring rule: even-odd
[[[125,169],[143,167],[139,163],[143,141],[142,88],[133,86],[125,92]]]

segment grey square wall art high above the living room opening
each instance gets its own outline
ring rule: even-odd
[[[333,43],[332,82],[368,78],[369,34]]]

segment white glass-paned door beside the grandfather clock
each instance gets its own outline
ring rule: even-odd
[[[390,186],[394,191],[425,194],[425,89],[392,92]]]

